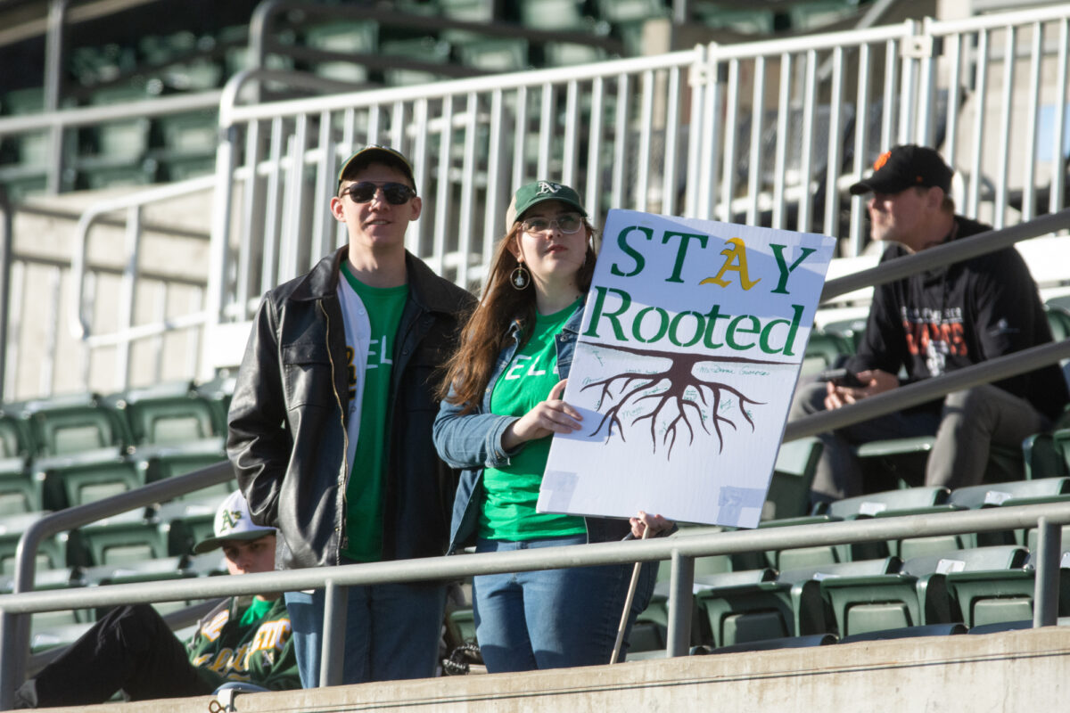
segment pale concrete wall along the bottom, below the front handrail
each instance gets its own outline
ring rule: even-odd
[[[239,696],[238,713],[845,713],[1067,710],[1070,627],[691,656],[617,666]],[[169,701],[203,713],[210,698]],[[162,710],[158,701],[101,707]]]

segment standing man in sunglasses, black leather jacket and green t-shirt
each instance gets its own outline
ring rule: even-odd
[[[254,321],[228,453],[278,567],[445,553],[455,474],[437,456],[432,372],[474,298],[404,249],[419,217],[408,159],[357,151],[331,200],[349,244],[271,290]],[[323,590],[287,592],[306,687],[319,684]],[[442,583],[351,587],[346,683],[433,676]]]

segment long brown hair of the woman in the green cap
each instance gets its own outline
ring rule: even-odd
[[[583,219],[583,228],[587,232],[586,249],[576,281],[580,292],[586,293],[595,272],[596,254],[594,228],[586,218]],[[474,410],[483,401],[498,355],[509,339],[509,325],[514,321],[520,322],[523,343],[535,324],[534,284],[529,281],[526,288],[517,290],[509,281],[509,275],[520,264],[509,246],[515,244],[522,230],[520,221],[517,221],[498,242],[479,304],[461,331],[460,347],[445,363],[446,373],[439,385],[439,398],[453,404],[464,404],[462,414]],[[450,386],[453,394],[449,393]]]

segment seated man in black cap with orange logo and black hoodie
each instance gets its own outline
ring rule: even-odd
[[[991,230],[954,214],[949,196],[953,171],[935,150],[896,146],[877,157],[873,169],[851,192],[872,193],[870,236],[889,244],[882,263]],[[845,365],[857,383],[800,387],[789,418],[839,408],[901,383],[1051,340],[1037,285],[1014,248],[918,273],[874,289],[862,342]],[[1026,436],[1051,425],[1068,399],[1058,367],[1044,367],[822,434],[824,449],[811,497],[832,500],[893,487],[863,482],[855,455],[859,444],[885,438],[935,437],[923,478],[916,474],[911,484],[923,480],[926,485],[954,489],[979,483],[991,446],[1019,449]],[[1023,475],[1019,470],[990,477],[1009,480]]]

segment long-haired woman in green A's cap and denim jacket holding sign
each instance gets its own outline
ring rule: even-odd
[[[513,197],[434,422],[439,454],[464,469],[450,552],[606,542],[672,527],[642,511],[630,523],[535,511],[552,435],[581,428],[581,415],[561,397],[594,273],[593,237],[568,186],[537,181]],[[656,564],[642,567],[625,635],[649,601]],[[487,669],[610,663],[631,571],[617,564],[476,576],[476,637]]]

